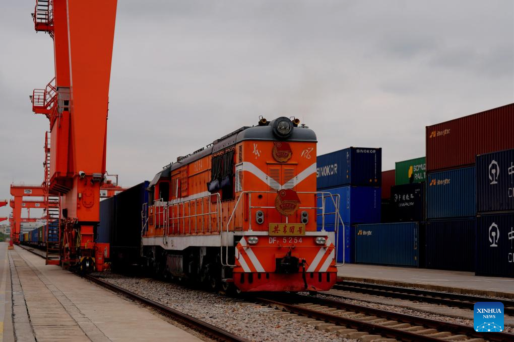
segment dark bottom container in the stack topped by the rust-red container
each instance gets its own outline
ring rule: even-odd
[[[475,223],[475,218],[427,222],[425,228],[427,268],[473,271]]]

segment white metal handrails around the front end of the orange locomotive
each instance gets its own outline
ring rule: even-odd
[[[244,194],[249,194],[249,198],[248,198],[249,216],[251,216],[251,209],[252,208],[253,209],[257,209],[257,208],[260,208],[260,209],[272,209],[272,208],[274,208],[274,207],[267,207],[267,206],[254,206],[254,207],[252,207],[252,205],[251,205],[251,194],[252,193],[277,193],[277,191],[243,191],[243,192],[241,192],[240,196],[237,198],[237,201],[236,201],[236,203],[234,205],[234,209],[232,210],[232,213],[230,214],[230,217],[227,220],[227,230],[226,230],[226,233],[227,233],[227,243],[226,243],[226,246],[225,246],[226,247],[225,248],[225,251],[226,251],[226,253],[225,253],[225,263],[223,263],[223,239],[222,239],[222,244],[220,244],[220,246],[219,246],[220,253],[221,253],[220,259],[221,259],[222,266],[227,266],[227,267],[236,267],[237,266],[235,264],[234,265],[230,265],[228,263],[228,247],[229,247],[228,246],[228,233],[229,233],[230,223],[232,222],[232,218],[234,217],[234,214],[235,214],[235,211],[237,209],[237,206],[239,205],[243,195]],[[299,207],[298,209],[321,209],[322,213],[324,213],[325,212],[325,200],[324,200],[325,195],[327,195],[326,197],[330,197],[332,199],[332,203],[334,204],[334,208],[336,210],[334,213],[337,214],[337,217],[341,220],[341,224],[343,225],[343,241],[344,241],[344,234],[345,234],[344,233],[344,222],[342,220],[341,215],[339,214],[339,209],[338,209],[339,206],[336,205],[336,201],[333,198],[334,196],[336,196],[337,199],[338,199],[337,203],[339,204],[339,199],[340,199],[339,197],[340,197],[340,195],[339,194],[332,194],[332,193],[326,192],[326,191],[315,191],[315,192],[299,191],[297,193],[299,193],[299,194],[316,194],[316,195],[321,194],[321,198],[322,198],[321,207],[317,207],[317,206],[316,207]],[[330,214],[333,214],[333,213],[330,213]],[[286,222],[287,222],[287,220],[288,220],[288,217],[286,216]],[[248,222],[249,222],[248,231],[252,231],[252,229],[251,229],[251,219],[249,219]],[[324,220],[324,216],[323,216],[322,231],[325,230],[325,225],[324,224],[325,224],[325,220]],[[338,242],[338,237],[339,237],[339,229],[338,229],[339,228],[339,220],[337,220],[337,219],[335,220],[334,226],[335,226],[335,231],[336,231],[336,242],[335,243],[337,243]],[[336,248],[335,257],[336,257],[336,260],[337,260],[337,248]],[[344,265],[344,248],[343,248],[343,264],[342,265]],[[342,265],[340,265],[340,266],[342,266]]]

